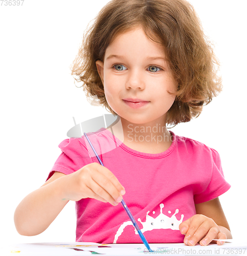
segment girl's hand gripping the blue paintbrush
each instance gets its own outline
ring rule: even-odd
[[[77,172],[66,175],[64,199],[79,201],[94,198],[117,205],[125,194],[125,188],[109,169],[99,163],[87,164]]]

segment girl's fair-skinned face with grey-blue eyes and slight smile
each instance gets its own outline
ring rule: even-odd
[[[97,60],[106,100],[130,123],[165,123],[177,90],[164,48],[141,28],[119,34],[107,47],[104,62]],[[140,103],[140,101],[144,101]],[[139,103],[134,103],[139,102]]]

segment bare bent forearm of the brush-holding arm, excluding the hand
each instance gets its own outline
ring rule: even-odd
[[[14,214],[16,230],[22,236],[42,233],[56,219],[68,200],[62,200],[62,181],[65,176],[55,172],[40,188],[26,196]]]

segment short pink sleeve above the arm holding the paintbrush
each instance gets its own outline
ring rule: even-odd
[[[80,138],[65,139],[58,146],[62,152],[46,180],[50,179],[55,172],[68,175],[93,162]]]

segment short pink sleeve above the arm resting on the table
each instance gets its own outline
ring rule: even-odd
[[[211,179],[204,191],[194,195],[195,204],[215,199],[224,194],[231,187],[231,185],[225,180],[218,152],[212,148],[210,148],[210,150],[212,161]]]

